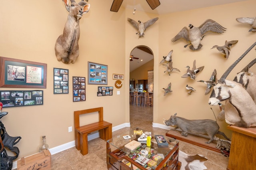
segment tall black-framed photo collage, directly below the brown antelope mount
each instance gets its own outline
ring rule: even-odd
[[[68,69],[53,68],[53,93],[68,93]]]

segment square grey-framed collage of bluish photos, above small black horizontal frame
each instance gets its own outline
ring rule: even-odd
[[[88,61],[88,84],[107,85],[108,66]]]

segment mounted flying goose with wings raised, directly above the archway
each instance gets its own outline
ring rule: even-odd
[[[134,26],[138,30],[136,34],[139,34],[139,38],[140,38],[140,37],[144,37],[144,32],[146,28],[154,24],[158,20],[158,17],[148,20],[147,22],[141,22],[140,20],[136,22],[131,18],[127,18],[127,20],[132,24],[132,26]]]

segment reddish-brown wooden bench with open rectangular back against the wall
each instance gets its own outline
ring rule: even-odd
[[[91,123],[89,125],[84,125],[80,127],[80,115],[98,112],[99,121],[96,123]],[[98,107],[94,109],[86,109],[82,111],[74,111],[75,119],[75,143],[76,149],[80,150],[82,155],[88,154],[88,139],[87,136],[91,132],[99,130],[100,138],[103,140],[109,140],[112,138],[112,123],[103,121],[103,107]]]

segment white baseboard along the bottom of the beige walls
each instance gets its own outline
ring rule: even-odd
[[[119,130],[121,128],[124,128],[124,127],[130,127],[130,123],[123,123],[121,125],[118,125],[118,126],[115,126],[115,127],[112,127],[112,132],[116,131],[116,130]],[[159,123],[152,123],[152,127],[158,127],[158,128],[163,128],[163,129],[167,129],[167,130],[170,130],[171,128],[166,126],[166,125],[162,125],[162,124],[159,124]],[[99,133],[94,133],[94,134],[90,134],[88,135],[88,141],[92,140],[92,139],[95,139],[95,138],[98,138],[100,137],[99,136]],[[75,146],[75,141],[71,141],[71,142],[68,142],[68,143],[65,143],[65,144],[62,144],[62,145],[59,145],[59,146],[56,146],[54,148],[50,148],[49,151],[50,153],[53,155],[53,154],[56,154],[58,152],[62,152],[63,150],[67,150],[69,148],[72,148]],[[31,155],[30,155],[31,156]],[[12,165],[12,170],[13,169],[16,169],[17,168],[17,161],[14,161],[13,162],[13,165]]]

